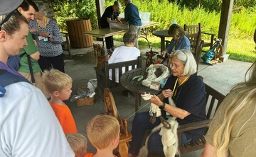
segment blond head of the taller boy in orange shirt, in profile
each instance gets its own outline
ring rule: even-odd
[[[51,96],[58,96],[60,100],[68,100],[72,93],[72,78],[57,69],[43,71],[43,85]]]

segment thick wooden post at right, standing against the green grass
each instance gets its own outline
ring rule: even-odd
[[[226,50],[228,45],[228,33],[230,28],[233,4],[234,0],[223,0],[223,4],[221,7],[218,37],[222,39],[221,45],[223,46],[223,57],[220,57],[220,60],[222,62],[228,59],[228,54],[226,54]]]

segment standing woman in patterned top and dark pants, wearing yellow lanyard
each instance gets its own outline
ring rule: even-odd
[[[43,6],[38,6],[38,8],[39,11],[35,14],[36,19],[29,21],[29,28],[34,30],[33,33],[38,42],[40,52],[38,64],[42,71],[54,68],[64,73],[64,55],[61,46],[63,37],[60,34],[58,23],[53,18],[46,17]]]

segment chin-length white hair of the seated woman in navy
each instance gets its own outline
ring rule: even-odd
[[[197,64],[193,54],[188,50],[177,50],[174,56],[184,65],[183,76],[191,76],[196,73]]]

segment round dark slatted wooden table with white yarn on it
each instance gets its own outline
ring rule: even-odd
[[[149,87],[143,86],[142,81],[137,81],[137,79],[134,79],[134,76],[144,76],[144,79],[147,77],[146,69],[144,68],[137,68],[130,71],[125,72],[120,77],[120,83],[121,85],[126,88],[129,91],[134,92],[135,97],[135,112],[139,110],[139,105],[141,103],[141,94],[151,93],[151,94],[158,94],[160,91],[156,91],[154,89],[151,89]]]

